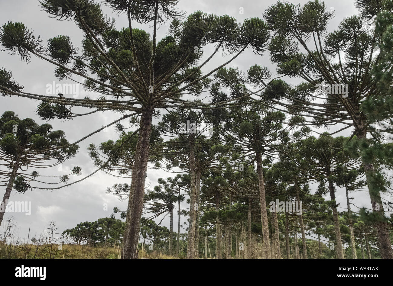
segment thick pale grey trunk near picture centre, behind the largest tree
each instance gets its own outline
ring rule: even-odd
[[[192,143],[191,143],[192,144]],[[189,227],[188,227],[188,247],[187,247],[187,258],[195,258],[195,211],[199,208],[196,205],[196,174],[195,174],[195,156],[194,156],[194,147],[190,147],[189,154],[190,161],[190,180],[191,180],[191,188],[190,188],[190,217],[189,217]]]

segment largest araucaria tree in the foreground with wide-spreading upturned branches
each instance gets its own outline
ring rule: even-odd
[[[184,102],[184,94],[203,91],[210,75],[249,46],[260,51],[268,38],[267,27],[259,18],[249,18],[239,24],[235,18],[207,15],[202,11],[184,19],[183,13],[175,8],[175,0],[107,0],[107,6],[116,13],[125,13],[128,18],[128,27],[119,31],[114,28],[114,19],[104,15],[100,5],[92,0],[42,0],[40,3],[51,17],[75,22],[84,33],[82,48],[75,48],[71,38],[65,35],[51,38],[45,47],[40,37],[34,36],[24,24],[14,22],[2,26],[2,46],[27,62],[31,55],[48,61],[55,66],[55,75],[60,80],[84,80],[86,90],[101,95],[97,99],[78,99],[65,94],[23,92],[11,77],[3,76],[4,73],[9,75],[5,70],[0,76],[0,90],[4,95],[43,101],[39,114],[47,119],[74,116],[66,106],[93,108],[89,114],[121,113],[122,117],[110,125],[139,116],[123,247],[124,258],[136,258],[153,114],[162,108],[176,108],[179,102]],[[158,40],[157,29],[165,19],[170,20],[171,25],[167,36]],[[133,23],[150,23],[152,34],[133,28]],[[204,59],[206,44],[215,44],[215,49]],[[220,51],[230,53],[231,58],[202,74],[201,68]]]

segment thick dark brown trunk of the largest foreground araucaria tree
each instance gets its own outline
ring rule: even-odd
[[[141,117],[141,130],[139,131],[138,143],[136,144],[135,161],[132,167],[131,188],[127,206],[123,240],[123,259],[138,258],[138,244],[147,176],[147,162],[149,160],[152,116],[153,109],[150,108]]]

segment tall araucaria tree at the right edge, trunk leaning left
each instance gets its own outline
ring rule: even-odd
[[[327,11],[324,2],[313,0],[303,6],[277,2],[266,9],[264,18],[274,35],[269,51],[278,66],[277,71],[303,79],[303,86],[314,89],[306,97],[288,93],[280,98],[281,101],[276,98],[275,103],[290,106],[317,126],[341,124],[339,131],[353,131],[351,144],[361,152],[381,257],[392,259],[380,196],[383,190],[379,187],[384,184],[384,178],[374,166],[377,154],[367,137],[375,134],[375,128],[369,124],[376,117],[370,120],[365,107],[373,100],[382,104],[381,98],[389,95],[386,90],[386,82],[391,83],[386,70],[389,53],[382,49],[380,54],[379,47],[381,38],[388,43],[386,39],[391,30],[382,27],[387,27],[387,23],[391,26],[392,19],[384,18],[378,28],[374,24],[380,25],[376,22],[377,15],[391,13],[393,4],[391,1],[356,0],[355,5],[359,15],[344,18],[338,29],[330,33],[327,25],[334,11]],[[382,67],[380,59],[385,63]],[[386,76],[381,77],[384,72]],[[288,101],[285,103],[284,99]],[[377,119],[388,119],[391,108],[386,109],[389,111],[382,113],[384,118],[378,116]]]

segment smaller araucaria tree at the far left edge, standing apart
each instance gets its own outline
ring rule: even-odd
[[[31,181],[42,183],[42,177],[48,175],[42,176],[37,170],[61,164],[75,156],[78,148],[69,144],[64,131],[52,130],[48,123],[39,125],[31,118],[20,119],[12,111],[4,112],[0,117],[0,165],[7,169],[0,170],[1,183],[6,186],[0,225],[12,189],[23,193],[31,189]],[[30,174],[26,173],[28,170]],[[73,167],[70,174],[81,174],[81,168]],[[60,178],[58,183],[69,179],[68,175],[52,177]]]

